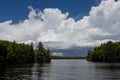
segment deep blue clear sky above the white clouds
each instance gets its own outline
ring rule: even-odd
[[[0,22],[12,20],[18,23],[28,17],[28,6],[43,10],[45,8],[59,8],[63,13],[75,20],[88,15],[92,6],[97,6],[101,0],[0,0]]]

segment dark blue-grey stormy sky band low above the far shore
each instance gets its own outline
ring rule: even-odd
[[[73,47],[69,49],[51,49],[51,52],[63,53],[63,56],[66,57],[86,57],[88,50],[93,50],[93,47]]]

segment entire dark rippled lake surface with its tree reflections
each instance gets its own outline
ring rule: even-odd
[[[50,64],[0,64],[0,80],[120,80],[120,63],[52,60]]]

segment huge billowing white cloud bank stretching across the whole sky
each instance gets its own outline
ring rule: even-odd
[[[75,21],[58,8],[43,11],[29,6],[28,18],[12,24],[0,23],[0,39],[17,42],[42,41],[49,48],[97,46],[120,40],[120,0],[102,0],[89,15]]]

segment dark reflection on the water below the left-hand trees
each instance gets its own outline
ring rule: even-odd
[[[0,65],[0,80],[40,80],[42,64]]]

